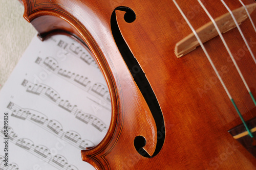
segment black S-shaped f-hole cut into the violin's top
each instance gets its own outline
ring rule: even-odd
[[[129,68],[131,75],[134,78],[134,81],[136,82],[137,86],[139,87],[148,107],[150,108],[150,111],[155,119],[156,127],[158,132],[163,132],[161,136],[157,137],[157,144],[156,144],[156,150],[153,155],[149,155],[144,149],[144,145],[146,144],[146,139],[143,136],[136,136],[134,139],[134,147],[136,151],[144,156],[144,157],[153,157],[157,155],[164,143],[165,139],[165,126],[164,126],[164,120],[163,120],[163,114],[161,111],[161,108],[159,106],[159,103],[157,101],[156,95],[148,82],[145,73],[143,72],[142,68],[140,67],[138,61],[130,51],[130,48],[126,44],[125,40],[123,39],[123,36],[119,30],[117,19],[116,19],[116,10],[125,11],[124,14],[124,20],[127,23],[132,23],[136,19],[135,12],[128,7],[117,7],[112,15],[111,15],[111,30],[112,35],[115,39],[116,45],[118,47],[118,50],[120,54],[123,57],[123,60],[125,61],[127,67]],[[146,57],[146,56],[145,56]],[[141,113],[143,114],[143,113]],[[164,127],[164,128],[163,128]]]

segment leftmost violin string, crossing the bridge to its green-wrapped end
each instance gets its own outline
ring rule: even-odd
[[[247,125],[246,125],[246,123],[245,123],[245,121],[244,121],[244,119],[243,119],[243,117],[242,117],[242,115],[241,115],[241,113],[240,113],[240,111],[239,111],[237,105],[234,103],[234,101],[233,101],[233,99],[232,99],[232,97],[231,97],[231,95],[230,95],[230,93],[229,93],[229,91],[228,91],[228,89],[227,89],[225,83],[223,82],[221,76],[219,75],[219,72],[218,72],[217,68],[215,67],[215,65],[214,65],[214,63],[212,62],[212,60],[211,60],[211,58],[210,58],[208,52],[206,51],[206,49],[205,49],[205,47],[204,47],[204,45],[203,45],[201,39],[199,38],[199,36],[198,36],[196,30],[195,30],[195,29],[193,28],[193,26],[190,24],[190,22],[188,21],[187,17],[185,16],[185,14],[183,13],[183,11],[181,10],[181,8],[179,7],[179,5],[177,4],[176,0],[173,0],[173,2],[174,2],[174,4],[176,5],[177,9],[180,11],[180,13],[181,13],[181,15],[183,16],[183,18],[185,19],[185,21],[187,22],[187,25],[189,26],[189,28],[191,29],[191,31],[194,33],[195,37],[197,38],[197,40],[198,40],[200,46],[202,47],[202,50],[204,51],[204,53],[205,53],[207,59],[209,60],[209,62],[210,62],[210,64],[211,64],[212,68],[214,69],[214,71],[215,71],[215,73],[216,73],[218,79],[220,80],[220,82],[221,82],[223,88],[225,89],[225,91],[226,91],[226,93],[227,93],[227,95],[228,95],[230,101],[232,102],[234,108],[235,108],[236,111],[238,112],[238,114],[239,114],[239,116],[240,116],[240,118],[241,118],[241,120],[242,120],[242,122],[243,122],[243,124],[244,124],[244,126],[245,126],[245,128],[246,128],[246,130],[248,131],[248,134],[250,135],[250,137],[253,137],[253,135],[252,135],[251,131],[249,130],[249,128],[247,127]]]

